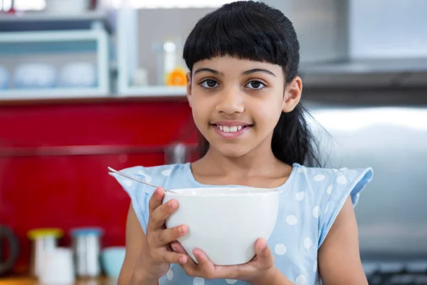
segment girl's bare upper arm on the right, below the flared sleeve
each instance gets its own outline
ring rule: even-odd
[[[368,285],[359,253],[357,222],[351,198],[319,249],[319,272],[325,285]]]

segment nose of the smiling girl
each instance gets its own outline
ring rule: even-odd
[[[216,105],[218,113],[243,113],[245,110],[243,93],[236,88],[223,89],[221,94],[218,94],[219,101]]]

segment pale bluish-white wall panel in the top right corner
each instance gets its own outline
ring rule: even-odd
[[[350,0],[354,58],[427,56],[426,0]]]

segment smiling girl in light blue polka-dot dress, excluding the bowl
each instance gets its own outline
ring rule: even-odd
[[[204,140],[201,158],[123,171],[167,189],[283,190],[278,221],[268,241],[255,243],[248,264],[215,266],[199,249],[195,264],[174,242],[189,228],[164,229],[178,202],[162,204],[162,188],[115,176],[132,199],[120,285],[367,284],[353,207],[372,170],[315,167],[319,160],[300,105],[299,59],[292,23],[265,4],[226,4],[196,24],[184,60],[187,98]]]

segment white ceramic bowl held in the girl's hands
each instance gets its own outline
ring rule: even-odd
[[[216,265],[244,264],[255,257],[255,242],[268,239],[278,216],[277,190],[252,187],[214,187],[167,192],[164,202],[176,199],[179,208],[166,227],[186,224],[189,233],[178,240],[196,261],[203,250]]]

